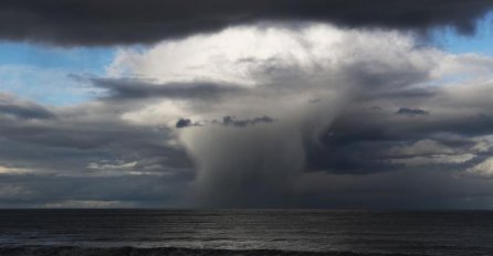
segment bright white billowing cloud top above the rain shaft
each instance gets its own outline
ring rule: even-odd
[[[407,57],[399,57],[407,55]],[[411,36],[397,32],[340,30],[327,24],[303,29],[237,26],[220,33],[165,41],[148,51],[122,49],[107,73],[158,83],[212,81],[260,85],[282,70],[316,75],[354,63],[373,62],[374,72],[394,66],[428,68],[443,55],[417,49]],[[387,64],[387,65],[381,65]]]

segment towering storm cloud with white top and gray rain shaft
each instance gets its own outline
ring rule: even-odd
[[[199,54],[206,47],[209,51]],[[178,61],[169,66],[167,60]],[[153,65],[158,61],[164,65]],[[234,94],[212,99],[161,94],[161,102],[149,102],[123,117],[132,116],[127,120],[140,125],[159,117],[160,124],[169,127],[179,118],[189,120],[176,136],[197,168],[190,192],[197,204],[279,206],[300,203],[306,194],[334,200],[336,195],[317,194],[325,191],[323,188],[306,189],[303,182],[317,175],[327,185],[335,185],[329,179],[355,177],[355,181],[373,184],[348,182],[354,190],[364,185],[373,191],[371,185],[376,185],[375,190],[398,191],[391,182],[379,182],[378,177],[399,179],[399,172],[421,175],[427,168],[432,175],[453,182],[455,172],[482,158],[473,148],[493,127],[484,122],[490,116],[480,115],[486,104],[473,103],[481,93],[469,94],[465,99],[464,94],[452,93],[462,86],[442,83],[458,73],[487,77],[492,67],[491,58],[449,54],[395,31],[344,30],[326,24],[303,29],[238,26],[162,42],[147,52],[122,50],[108,68],[113,76],[108,82],[113,81],[118,90],[120,76],[138,74],[155,81],[159,89],[149,92],[165,92],[180,81],[237,88]],[[469,86],[480,92],[491,85]],[[451,111],[447,106],[464,108]],[[189,126],[224,116],[235,116],[234,120],[266,116],[275,121],[241,127]],[[473,120],[476,130],[468,128],[466,120]],[[419,151],[422,145],[437,147]],[[453,150],[443,150],[450,148]],[[416,156],[389,151],[412,151]],[[438,169],[443,167],[452,171],[441,173]],[[392,174],[384,174],[387,172]],[[421,181],[412,178],[416,184]],[[458,181],[458,185],[466,191],[473,181],[464,179],[464,184]],[[433,193],[432,188],[427,190]],[[331,193],[347,195],[343,188]]]

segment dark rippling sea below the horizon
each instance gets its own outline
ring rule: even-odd
[[[493,255],[493,212],[0,210],[0,255]]]

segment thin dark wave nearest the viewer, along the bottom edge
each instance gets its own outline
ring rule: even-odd
[[[417,256],[409,254],[357,254],[350,252],[293,252],[276,249],[195,249],[179,247],[77,247],[25,246],[0,247],[1,256]]]

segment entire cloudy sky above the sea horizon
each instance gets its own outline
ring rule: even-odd
[[[0,207],[493,209],[493,2],[0,2]]]

